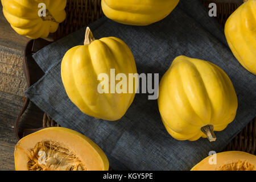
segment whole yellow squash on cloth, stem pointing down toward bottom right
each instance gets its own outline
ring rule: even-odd
[[[177,140],[216,140],[213,131],[234,120],[237,105],[228,75],[208,61],[178,56],[160,81],[160,115]]]

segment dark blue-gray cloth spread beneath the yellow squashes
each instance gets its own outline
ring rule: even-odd
[[[96,142],[116,170],[188,170],[209,151],[220,152],[256,115],[256,76],[246,71],[232,55],[223,28],[210,18],[200,1],[183,0],[164,20],[146,27],[127,26],[101,18],[89,26],[100,39],[115,36],[130,47],[138,73],[162,77],[176,56],[208,60],[228,74],[238,96],[236,119],[216,142],[172,138],[163,126],[157,100],[137,94],[119,121],[89,117],[69,100],[60,77],[64,53],[83,43],[85,28],[41,49],[34,59],[46,73],[26,95],[63,127],[79,131]],[[107,109],[107,108],[106,108]]]

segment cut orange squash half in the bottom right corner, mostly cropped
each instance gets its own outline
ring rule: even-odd
[[[256,156],[241,151],[220,152],[208,156],[191,171],[256,171]]]

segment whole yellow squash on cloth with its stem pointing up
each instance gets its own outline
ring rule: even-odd
[[[111,69],[115,70],[116,76],[121,73],[127,77],[126,93],[111,91],[113,82],[110,80],[115,79]],[[98,79],[102,74],[109,79]],[[133,80],[128,80],[129,74],[135,74]],[[126,113],[138,88],[137,68],[129,47],[114,37],[95,40],[89,28],[86,29],[84,46],[73,47],[65,53],[61,78],[68,97],[83,113],[108,121],[118,120]],[[107,82],[102,86],[108,86],[106,92],[98,90],[101,81]],[[118,83],[118,79],[114,81],[114,84]],[[133,92],[129,92],[129,88]]]

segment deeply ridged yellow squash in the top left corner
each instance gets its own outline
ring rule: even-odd
[[[30,39],[47,38],[57,31],[59,23],[66,18],[67,0],[1,0],[3,15],[20,35]],[[46,5],[46,17],[38,15],[39,3]]]

